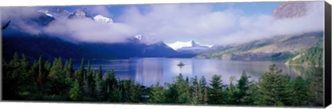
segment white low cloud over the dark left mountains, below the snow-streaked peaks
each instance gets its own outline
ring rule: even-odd
[[[44,31],[70,41],[115,43],[136,34],[135,30],[124,23],[98,23],[89,18],[56,20]]]

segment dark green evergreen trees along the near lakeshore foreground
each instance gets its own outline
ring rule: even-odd
[[[24,54],[16,52],[8,62],[3,61],[3,100],[84,101],[99,103],[158,103],[187,105],[241,106],[324,106],[323,69],[321,64],[311,67],[308,79],[291,79],[271,65],[259,81],[249,81],[243,71],[239,80],[230,77],[230,84],[214,75],[208,84],[205,77],[188,78],[179,74],[172,83],[142,86],[132,79],[117,79],[113,70],[102,75],[90,62],[73,70],[68,59],[53,63],[30,63]],[[313,65],[315,65],[313,63]]]

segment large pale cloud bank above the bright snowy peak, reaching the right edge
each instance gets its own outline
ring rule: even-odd
[[[235,8],[212,12],[205,5],[153,5],[145,12],[129,8],[122,20],[139,31],[156,33],[155,39],[195,37],[201,43],[221,45],[324,30],[324,3],[306,6],[309,11],[303,17],[275,19],[271,14],[245,16],[244,10]]]

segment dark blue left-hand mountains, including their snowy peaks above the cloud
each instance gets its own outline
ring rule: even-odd
[[[59,19],[80,19],[89,18],[96,23],[113,24],[113,19],[100,14],[92,17],[83,10],[68,12],[62,9],[39,10],[38,17],[31,17],[26,20],[30,23],[37,23],[38,26],[48,26],[51,21]],[[13,27],[15,22],[11,23]],[[3,57],[10,59],[14,52],[24,53],[30,59],[37,59],[42,55],[46,59],[54,57],[88,59],[122,59],[131,57],[177,57],[180,53],[163,41],[156,43],[145,43],[140,37],[132,37],[121,43],[72,43],[59,39],[48,34],[28,34],[15,28],[3,31]],[[19,43],[19,44],[13,44]],[[194,55],[192,54],[191,57]],[[186,56],[187,57],[187,56]]]

